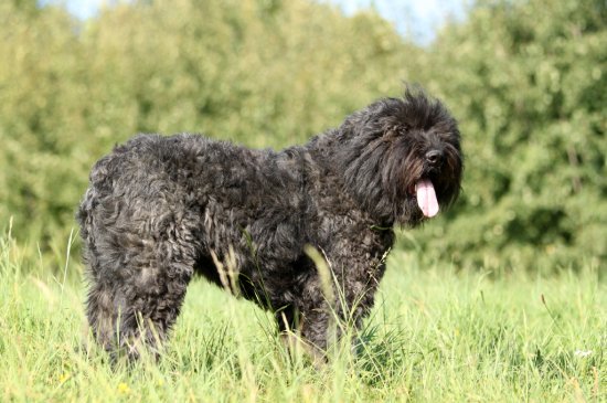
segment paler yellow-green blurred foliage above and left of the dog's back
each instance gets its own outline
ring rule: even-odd
[[[139,131],[303,142],[397,94],[400,55],[417,51],[372,13],[302,0],[142,1],[84,23],[2,2],[0,19],[0,220],[43,250],[64,242],[90,166],[115,142]]]

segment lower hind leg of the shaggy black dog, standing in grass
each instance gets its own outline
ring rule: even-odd
[[[124,233],[121,236],[125,236]],[[126,240],[123,240],[126,241]],[[143,350],[157,356],[179,316],[194,259],[174,240],[111,243],[116,247],[90,264],[87,316],[97,341],[131,359]]]

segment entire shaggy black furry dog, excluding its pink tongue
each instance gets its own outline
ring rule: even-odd
[[[447,206],[461,172],[456,120],[411,89],[279,152],[139,135],[94,166],[77,214],[94,335],[110,351],[153,349],[200,273],[277,312],[281,330],[299,321],[300,335],[326,349],[329,306],[360,325],[393,225],[424,221],[415,184],[432,180]],[[307,245],[324,256],[345,304],[326,300]]]

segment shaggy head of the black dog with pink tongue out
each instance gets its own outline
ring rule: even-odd
[[[456,120],[443,104],[407,88],[340,127],[348,188],[385,222],[415,226],[459,195],[464,156]]]

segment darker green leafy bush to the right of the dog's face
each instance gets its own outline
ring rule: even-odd
[[[460,120],[464,198],[422,244],[490,268],[607,256],[607,6],[481,1],[425,82]]]

